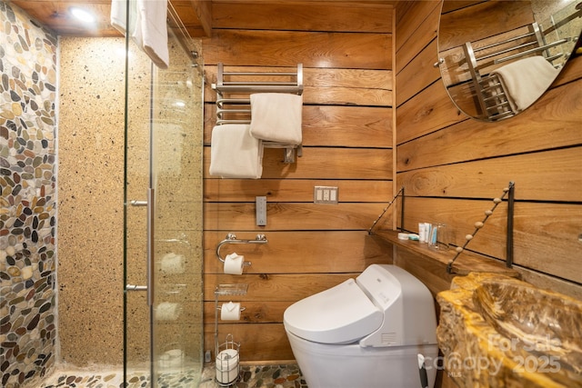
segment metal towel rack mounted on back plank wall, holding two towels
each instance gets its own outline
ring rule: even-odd
[[[276,79],[277,81],[274,81]],[[297,64],[295,72],[235,72],[225,71],[222,63],[216,70],[216,125],[250,124],[253,93],[303,94],[303,64]],[[283,148],[284,162],[295,163],[301,156],[301,144],[263,142],[266,148]]]

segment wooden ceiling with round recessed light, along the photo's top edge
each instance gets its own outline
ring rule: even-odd
[[[213,19],[220,17],[213,15],[212,5],[215,4],[278,4],[297,7],[306,4],[328,6],[383,4],[393,6],[398,0],[169,0],[169,2],[186,26],[188,33],[192,37],[203,37],[212,35]],[[57,35],[120,36],[119,32],[109,23],[111,0],[11,0],[10,3],[25,10],[28,15],[55,31]],[[75,6],[92,12],[96,16],[96,24],[87,25],[77,21],[70,13],[71,7]],[[219,9],[220,7],[217,6],[217,12]],[[349,12],[348,9],[346,8],[347,12]]]

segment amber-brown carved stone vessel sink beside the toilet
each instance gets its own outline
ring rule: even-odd
[[[499,274],[438,293],[437,340],[460,387],[582,388],[582,302]]]

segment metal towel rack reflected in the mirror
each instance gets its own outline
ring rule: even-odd
[[[546,37],[537,23],[528,25],[528,29],[526,34],[512,36],[490,45],[475,47],[471,42],[463,45],[481,117],[501,120],[515,115],[507,100],[507,92],[497,75],[491,73],[498,67],[496,65],[537,53],[543,53],[546,60],[552,63],[563,54],[551,55],[549,49],[570,40],[565,38],[547,44]],[[479,53],[482,54],[478,55]]]

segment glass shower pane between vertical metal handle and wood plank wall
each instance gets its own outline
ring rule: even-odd
[[[152,99],[152,349],[158,378],[186,382],[202,369],[202,77],[191,58],[172,60]]]

